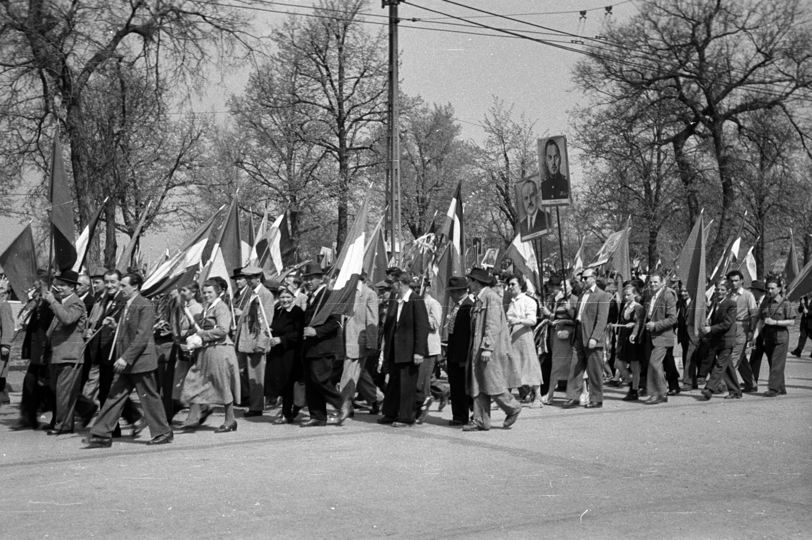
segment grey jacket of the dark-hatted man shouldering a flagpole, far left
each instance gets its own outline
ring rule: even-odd
[[[54,320],[48,328],[50,337],[50,362],[84,363],[84,324],[88,319],[88,312],[76,294],[63,298],[62,302],[50,305],[54,312]]]

